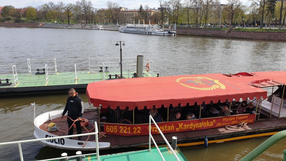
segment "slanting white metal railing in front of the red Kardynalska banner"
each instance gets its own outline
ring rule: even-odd
[[[178,161],[180,161],[179,157],[177,156],[177,154],[175,153],[175,151],[173,150],[173,148],[171,147],[171,145],[169,144],[168,140],[166,139],[166,137],[164,136],[164,134],[162,133],[162,131],[160,130],[160,128],[158,127],[157,123],[154,121],[153,117],[151,115],[149,115],[149,151],[151,151],[151,139],[153,140],[154,145],[156,146],[158,152],[161,155],[161,158],[163,161],[165,161],[160,149],[158,148],[158,145],[156,144],[152,134],[151,134],[151,120],[153,121],[154,125],[156,126],[157,130],[159,131],[159,133],[161,134],[161,136],[163,137],[163,139],[165,140],[165,142],[167,143],[168,147],[170,148],[170,150],[172,151],[173,155],[176,157],[176,159]]]

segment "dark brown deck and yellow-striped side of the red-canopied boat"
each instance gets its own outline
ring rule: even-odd
[[[95,111],[85,112],[83,115],[84,118],[88,119],[91,124],[94,121],[97,121],[97,114]],[[59,118],[52,120],[52,122],[57,123]],[[40,126],[40,129],[47,131],[47,126],[51,121],[48,121]],[[61,130],[68,129],[68,125],[66,122],[66,118],[60,120],[59,122]],[[87,129],[91,129],[92,126],[88,125]],[[224,127],[220,128],[213,128],[213,129],[205,129],[197,130],[197,131],[186,131],[186,132],[177,132],[177,133],[166,133],[164,134],[167,140],[171,140],[172,137],[175,135],[178,137],[178,146],[189,146],[189,145],[199,145],[203,144],[203,139],[205,135],[208,137],[209,143],[217,143],[221,141],[230,141],[230,140],[238,140],[238,139],[245,139],[250,137],[259,137],[259,136],[268,136],[273,135],[282,129],[286,129],[286,120],[285,118],[277,118],[272,116],[272,119],[264,119],[264,120],[257,120],[255,123],[249,123],[246,127],[240,131],[231,131],[227,130]],[[84,130],[83,130],[84,132]],[[58,136],[67,135],[66,132],[55,131],[52,134]],[[74,130],[74,134],[76,134],[76,130]],[[158,145],[165,145],[163,138],[160,134],[153,135],[154,140]],[[77,138],[73,138],[77,140]],[[85,142],[87,136],[82,137],[81,142]],[[88,141],[95,140],[94,136],[90,136]],[[128,141],[126,141],[128,140]],[[147,140],[147,141],[146,141]],[[99,139],[100,142],[109,142],[111,147],[102,148],[102,149],[109,149],[109,148],[121,148],[121,147],[134,147],[134,146],[143,146],[145,147],[148,145],[148,135],[143,136],[118,136],[118,135],[105,135],[105,137],[101,137]]]

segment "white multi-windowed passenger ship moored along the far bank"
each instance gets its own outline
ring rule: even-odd
[[[176,35],[176,24],[173,29],[164,29],[157,24],[126,24],[126,26],[119,28],[119,32],[172,36]]]

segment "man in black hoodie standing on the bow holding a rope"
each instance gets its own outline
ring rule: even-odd
[[[68,99],[66,100],[66,107],[63,110],[63,114],[61,118],[63,118],[66,112],[68,111],[68,116],[72,120],[77,120],[74,123],[77,127],[77,134],[81,134],[80,122],[81,122],[81,117],[83,116],[83,110],[84,110],[83,100],[78,96],[77,92],[75,92],[75,89],[73,88],[69,90],[69,96],[70,97],[68,97]],[[69,117],[67,117],[67,122],[70,128],[74,121],[72,121]],[[71,127],[69,129],[68,135],[72,135],[73,132],[74,132],[73,128]],[[69,139],[72,139],[72,138],[70,137]],[[81,140],[81,136],[78,137],[78,140]]]

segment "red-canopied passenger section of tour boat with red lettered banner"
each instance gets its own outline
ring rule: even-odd
[[[83,117],[98,122],[105,136],[100,138],[102,149],[148,145],[142,140],[148,137],[146,118],[152,112],[167,140],[176,133],[178,146],[203,144],[205,138],[208,143],[217,143],[268,136],[286,128],[286,110],[283,101],[265,110],[262,102],[269,100],[272,93],[268,95],[264,88],[282,86],[284,90],[285,81],[286,71],[275,71],[94,82],[88,84],[86,95],[95,108],[87,109]],[[242,101],[247,101],[248,107],[243,114],[237,114]],[[57,121],[60,113],[54,115],[55,120],[39,125],[39,129],[47,131],[47,125]],[[68,128],[67,123],[61,124],[63,129]],[[151,134],[157,144],[164,144],[153,124]]]

